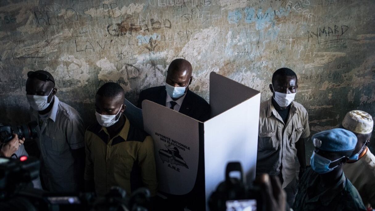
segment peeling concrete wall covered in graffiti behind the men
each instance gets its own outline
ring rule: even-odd
[[[28,121],[30,70],[51,72],[57,96],[90,124],[99,86],[116,81],[135,102],[178,57],[207,100],[211,71],[264,101],[273,71],[293,69],[312,133],[352,109],[375,116],[374,10],[374,0],[1,1],[0,119]]]

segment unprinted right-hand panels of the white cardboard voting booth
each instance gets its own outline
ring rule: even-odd
[[[204,122],[206,201],[230,161],[241,163],[247,181],[255,178],[260,92],[211,73],[210,105],[214,117]]]

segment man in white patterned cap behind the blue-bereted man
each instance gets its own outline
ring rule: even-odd
[[[371,115],[360,110],[348,112],[342,127],[356,134],[358,142],[350,159],[342,168],[345,176],[357,188],[366,207],[375,208],[375,156],[367,148],[374,121]]]

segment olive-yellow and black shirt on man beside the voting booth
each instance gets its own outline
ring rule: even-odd
[[[153,139],[132,126],[126,119],[120,133],[110,139],[107,128],[98,123],[85,134],[86,167],[84,178],[94,181],[99,196],[113,186],[127,194],[139,187],[147,187],[156,195],[156,163]]]

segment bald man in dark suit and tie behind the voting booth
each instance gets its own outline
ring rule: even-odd
[[[192,66],[185,59],[175,59],[168,67],[165,86],[151,87],[139,94],[137,107],[142,109],[145,99],[204,122],[210,118],[210,105],[189,90],[193,77]]]

